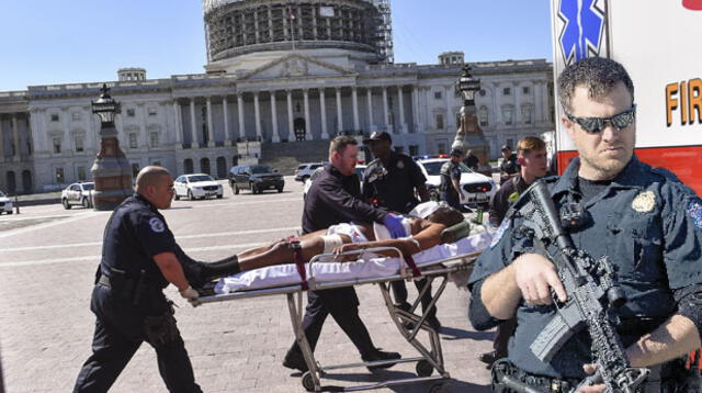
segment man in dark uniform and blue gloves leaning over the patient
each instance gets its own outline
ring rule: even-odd
[[[303,234],[355,221],[382,223],[395,238],[407,236],[400,216],[375,209],[362,201],[361,182],[355,175],[358,155],[358,142],[353,137],[342,135],[331,139],[329,144],[331,165],[325,167],[324,171],[319,173],[312,183],[307,198],[305,198]],[[375,348],[369,330],[359,316],[359,297],[353,287],[307,291],[307,308],[303,318],[303,329],[313,351],[329,314],[353,341],[364,361],[400,357],[397,352],[386,352]],[[307,364],[296,343],[285,355],[283,366],[303,372],[307,371]],[[370,369],[390,366],[375,366]]]

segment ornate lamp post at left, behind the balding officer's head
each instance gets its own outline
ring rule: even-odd
[[[100,116],[100,151],[90,168],[95,191],[93,206],[95,210],[114,210],[124,199],[129,196],[132,188],[132,169],[120,149],[117,130],[114,117],[122,112],[122,105],[110,97],[110,88],[103,83],[100,98],[92,101],[92,113]]]

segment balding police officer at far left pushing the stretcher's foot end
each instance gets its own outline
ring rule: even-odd
[[[170,207],[172,198],[168,170],[146,167],[136,178],[136,193],[112,213],[90,303],[98,317],[93,353],[80,370],[73,392],[110,390],[143,341],[156,349],[170,392],[201,392],[171,302],[161,292],[172,283],[184,299],[197,297],[174,254],[173,234],[158,212]]]

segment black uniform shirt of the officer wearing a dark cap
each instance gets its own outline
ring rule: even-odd
[[[363,196],[377,199],[384,210],[409,213],[419,203],[415,189],[426,182],[417,162],[407,155],[390,151],[387,167],[376,158],[365,168]]]

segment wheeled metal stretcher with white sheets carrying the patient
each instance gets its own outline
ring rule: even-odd
[[[469,274],[475,258],[489,245],[490,238],[491,234],[484,232],[464,237],[452,244],[439,245],[414,255],[412,262],[407,262],[406,259],[403,258],[401,252],[396,248],[367,248],[363,250],[363,252],[392,250],[397,254],[397,258],[372,258],[370,260],[343,263],[327,262],[325,260],[329,260],[332,257],[331,255],[318,255],[306,263],[304,271],[301,271],[299,267],[295,265],[281,265],[251,270],[222,279],[215,285],[215,294],[200,297],[199,303],[215,303],[285,294],[295,338],[309,369],[309,371],[303,373],[302,378],[303,386],[307,391],[349,392],[437,381],[438,383],[432,386],[431,391],[445,392],[449,391],[446,381],[451,375],[444,367],[441,340],[439,333],[429,327],[428,324],[424,324],[424,318],[426,315],[428,315],[428,311],[434,307],[437,301],[443,293],[449,281],[449,276],[458,272]],[[417,276],[418,272],[420,276]],[[429,290],[431,285],[423,288],[410,310],[405,311],[396,307],[389,294],[388,283],[396,280],[409,281],[422,278],[428,279],[429,282],[440,280],[440,284],[433,294],[433,300],[428,310],[423,312],[423,315],[417,315],[415,311],[424,291]],[[324,290],[369,283],[378,284],[390,318],[403,337],[419,352],[419,356],[321,367],[315,360],[302,327],[303,292],[306,290]],[[428,344],[422,344],[418,339],[418,335],[422,330],[428,334]],[[416,363],[416,378],[387,380],[359,386],[322,386],[320,382],[325,373],[330,370],[409,362]]]

